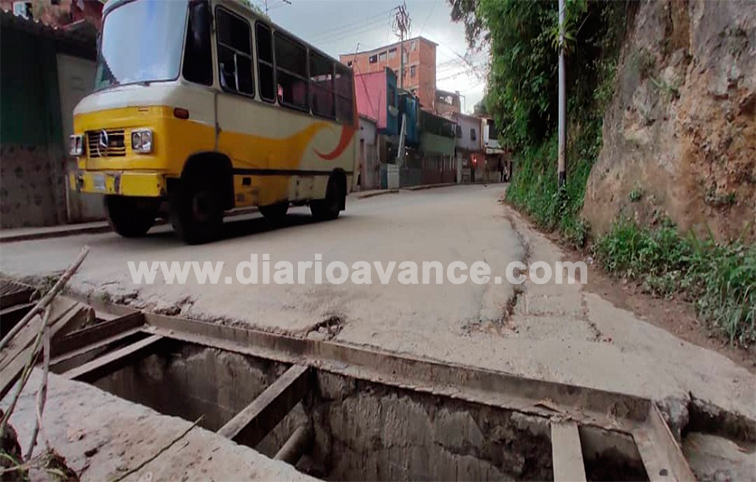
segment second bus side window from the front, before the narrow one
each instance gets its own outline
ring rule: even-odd
[[[249,23],[223,9],[218,9],[215,19],[221,87],[228,92],[254,95]]]

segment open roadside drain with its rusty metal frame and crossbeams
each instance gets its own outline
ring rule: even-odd
[[[0,293],[2,310],[25,309],[31,292],[15,293]],[[97,301],[56,303],[54,373],[198,421],[321,479],[693,479],[647,399]],[[23,359],[34,333],[19,332],[5,359]],[[21,374],[8,367],[2,394]]]

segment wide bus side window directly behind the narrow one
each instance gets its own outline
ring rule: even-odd
[[[275,32],[278,103],[310,110],[307,82],[307,48],[281,32]]]

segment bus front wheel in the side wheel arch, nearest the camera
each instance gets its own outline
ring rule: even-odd
[[[173,185],[168,194],[171,225],[185,243],[207,243],[218,236],[223,207],[212,183],[190,177]]]

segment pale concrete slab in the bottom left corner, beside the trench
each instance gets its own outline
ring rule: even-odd
[[[41,375],[40,370],[34,371],[11,417],[24,450],[34,424]],[[6,397],[0,406],[5,409],[8,403]],[[65,457],[82,481],[119,477],[160,452],[192,425],[54,374],[50,374],[43,420],[50,445]],[[47,480],[41,473],[31,475],[32,480]],[[214,432],[194,427],[125,480],[316,479]]]

